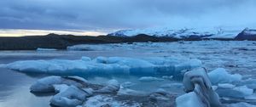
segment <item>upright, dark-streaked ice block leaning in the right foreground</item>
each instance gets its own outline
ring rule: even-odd
[[[212,84],[205,69],[191,70],[183,77],[184,95],[177,97],[177,107],[219,107],[218,94],[212,89]]]

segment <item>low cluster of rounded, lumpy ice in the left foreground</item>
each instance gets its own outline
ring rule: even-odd
[[[96,94],[113,94],[119,91],[119,82],[110,80],[105,85],[93,84],[77,76],[48,76],[31,86],[32,93],[51,93],[50,104],[58,107],[76,107]]]

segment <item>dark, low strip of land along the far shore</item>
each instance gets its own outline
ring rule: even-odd
[[[46,36],[29,37],[0,37],[0,50],[35,50],[37,48],[67,49],[68,46],[78,44],[106,44],[106,43],[132,43],[132,42],[178,42],[178,41],[243,41],[246,39],[236,38],[174,38],[174,37],[153,37],[144,34],[135,37],[114,37],[114,36],[73,36],[49,34]],[[249,41],[255,41],[254,39]]]

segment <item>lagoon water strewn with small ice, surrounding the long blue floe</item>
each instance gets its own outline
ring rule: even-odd
[[[218,67],[232,73],[240,73],[244,77],[256,78],[256,42],[146,42],[133,44],[85,45],[90,51],[0,51],[0,64],[27,59],[80,59],[82,56],[96,58],[98,56],[152,57],[175,56],[201,59],[208,70]],[[84,50],[84,47],[76,48]],[[49,97],[36,97],[29,92],[33,82],[43,76],[27,76],[13,70],[0,68],[0,107],[47,107]],[[110,79],[119,82],[132,82],[132,89],[151,92],[166,83],[176,82],[165,80],[160,82],[140,82],[140,76],[83,76],[90,82],[102,83]],[[157,76],[159,77],[159,76]],[[181,88],[167,89],[182,94]]]

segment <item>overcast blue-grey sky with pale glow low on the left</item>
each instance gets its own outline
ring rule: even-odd
[[[256,0],[1,0],[0,36],[256,25]]]

